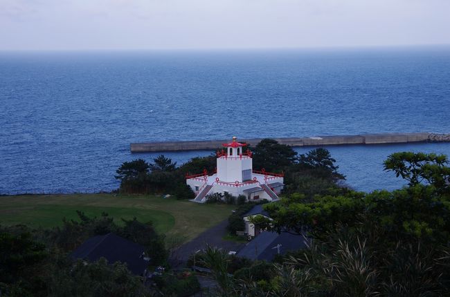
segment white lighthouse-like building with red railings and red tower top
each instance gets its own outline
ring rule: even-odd
[[[282,190],[283,174],[253,171],[252,153],[236,141],[222,144],[224,148],[217,152],[217,169],[213,174],[203,173],[186,175],[186,184],[196,194],[193,201],[203,203],[205,197],[213,193],[229,193],[233,196],[245,195],[247,200],[278,200]]]

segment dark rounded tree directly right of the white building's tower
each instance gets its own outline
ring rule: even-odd
[[[291,146],[265,138],[253,150],[253,166],[266,171],[280,171],[294,164],[296,155]]]

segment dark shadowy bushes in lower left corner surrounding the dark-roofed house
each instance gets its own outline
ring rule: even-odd
[[[78,217],[50,230],[0,227],[1,296],[152,296],[124,264],[68,257],[91,236],[113,232],[145,247],[150,265],[165,265],[164,237],[152,223],[134,218],[116,224],[107,213],[89,218],[78,211]]]

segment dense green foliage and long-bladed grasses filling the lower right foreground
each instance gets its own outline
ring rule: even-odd
[[[300,162],[324,167],[307,155]],[[442,155],[396,153],[385,169],[408,180],[403,189],[294,192],[265,205],[273,221],[260,217],[259,224],[305,236],[309,247],[278,256],[273,265],[242,267],[233,278],[224,275],[229,256],[206,251],[210,256],[204,261],[219,283],[217,295],[449,296],[448,164]]]

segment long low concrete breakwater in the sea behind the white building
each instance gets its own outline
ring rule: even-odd
[[[231,137],[230,137],[231,138]],[[337,135],[318,137],[270,137],[280,144],[289,146],[327,146],[346,144],[399,144],[410,142],[450,142],[450,134],[435,133],[379,133],[363,135]],[[238,139],[255,146],[262,138]],[[179,142],[142,142],[130,145],[132,153],[158,151],[201,151],[214,150],[230,140],[199,140]]]

